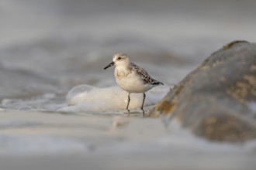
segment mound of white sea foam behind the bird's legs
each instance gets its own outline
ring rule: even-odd
[[[156,104],[168,92],[169,87],[154,87],[146,93],[144,106]],[[67,107],[60,111],[106,111],[125,109],[128,93],[119,87],[97,88],[86,84],[73,87],[67,93]],[[131,93],[130,108],[140,107],[142,104],[142,93]]]

